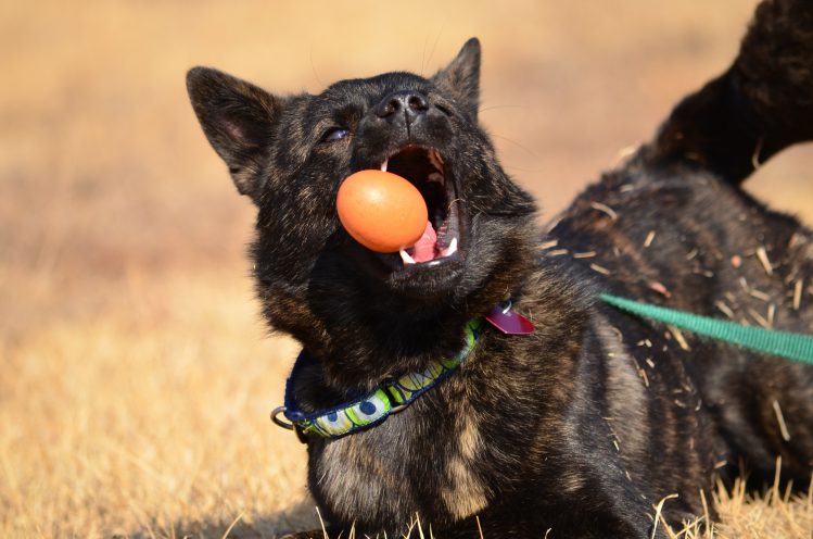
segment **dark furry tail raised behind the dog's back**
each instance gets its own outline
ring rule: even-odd
[[[728,71],[675,108],[647,153],[738,185],[775,153],[811,139],[813,0],[765,0]]]

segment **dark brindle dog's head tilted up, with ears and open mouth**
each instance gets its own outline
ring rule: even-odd
[[[272,326],[318,353],[361,327],[466,319],[510,291],[533,258],[535,205],[478,124],[479,77],[477,39],[431,78],[388,73],[318,96],[278,97],[218,71],[189,72],[206,137],[258,208],[252,252]],[[340,224],[342,180],[384,165],[425,199],[437,231],[429,260],[372,252]]]

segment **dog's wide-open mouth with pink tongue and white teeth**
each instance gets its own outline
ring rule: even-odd
[[[433,148],[409,146],[384,160],[382,171],[406,178],[427,203],[429,221],[423,235],[399,251],[403,266],[441,264],[460,248],[457,188],[441,153]]]

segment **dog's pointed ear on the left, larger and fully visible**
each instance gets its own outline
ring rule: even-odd
[[[192,109],[238,191],[255,197],[257,175],[282,101],[250,83],[208,67],[187,73]]]

